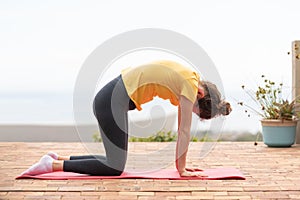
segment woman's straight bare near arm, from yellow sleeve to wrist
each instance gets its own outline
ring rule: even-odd
[[[186,155],[190,142],[193,103],[180,96],[178,108],[178,139],[176,145],[176,168],[180,174],[186,172]]]

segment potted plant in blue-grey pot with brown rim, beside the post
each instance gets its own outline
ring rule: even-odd
[[[269,147],[290,147],[295,143],[296,126],[298,122],[299,100],[291,101],[283,99],[282,86],[280,83],[266,79],[264,75],[263,85],[258,86],[256,91],[251,91],[245,86],[242,89],[257,104],[258,109],[239,102],[241,106],[246,106],[248,113],[254,112],[262,117],[262,135],[264,143]],[[248,114],[248,116],[250,116]]]

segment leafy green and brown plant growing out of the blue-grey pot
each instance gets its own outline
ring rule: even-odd
[[[245,106],[248,111],[254,112],[264,119],[281,119],[281,120],[295,120],[299,117],[299,99],[292,101],[282,97],[283,84],[276,85],[275,82],[266,79],[264,75],[261,76],[263,85],[259,85],[256,91],[242,86],[242,89],[256,102],[258,108],[254,108],[244,102],[238,102],[239,105]],[[248,116],[250,114],[248,113]]]

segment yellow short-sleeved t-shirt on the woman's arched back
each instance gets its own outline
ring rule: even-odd
[[[199,75],[173,61],[157,61],[138,67],[129,67],[121,73],[128,96],[138,110],[155,96],[169,99],[178,106],[179,96],[196,101]]]

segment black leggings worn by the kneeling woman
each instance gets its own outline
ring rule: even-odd
[[[70,160],[64,161],[63,170],[90,175],[118,176],[123,172],[127,160],[127,113],[135,109],[121,75],[98,92],[93,107],[106,156],[71,156]]]

